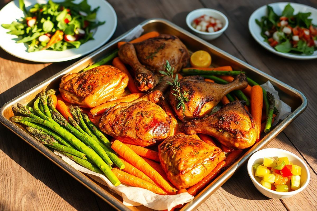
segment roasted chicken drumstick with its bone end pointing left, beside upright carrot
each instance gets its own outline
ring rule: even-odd
[[[180,130],[186,134],[204,133],[229,148],[245,149],[255,143],[259,129],[243,104],[234,101],[207,118],[184,122]]]

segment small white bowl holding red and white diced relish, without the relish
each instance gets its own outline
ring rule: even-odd
[[[201,31],[197,30],[196,28],[192,27],[191,23],[196,18],[198,18],[199,16],[202,16],[202,15],[212,16],[214,18],[219,19],[221,21],[221,23],[223,24],[223,28],[217,32],[201,32]],[[222,12],[219,12],[215,9],[208,9],[208,8],[195,9],[195,10],[191,11],[190,13],[188,13],[188,15],[186,16],[186,23],[194,34],[196,34],[198,37],[200,37],[204,40],[216,39],[228,28],[228,25],[229,25],[228,18]]]

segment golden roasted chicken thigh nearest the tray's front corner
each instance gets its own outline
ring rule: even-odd
[[[178,189],[184,189],[206,177],[225,159],[225,154],[197,135],[178,133],[159,145],[159,159],[171,183]]]

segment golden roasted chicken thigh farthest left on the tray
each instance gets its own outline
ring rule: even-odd
[[[61,79],[59,90],[67,102],[93,108],[119,97],[128,76],[111,65],[101,65],[82,73],[69,73]]]

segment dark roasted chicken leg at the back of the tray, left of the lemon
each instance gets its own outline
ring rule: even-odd
[[[126,43],[119,49],[120,60],[132,67],[135,84],[140,91],[150,90],[159,81],[159,71],[164,71],[163,64],[168,60],[174,72],[187,65],[189,53],[178,37],[162,34],[143,42]]]

